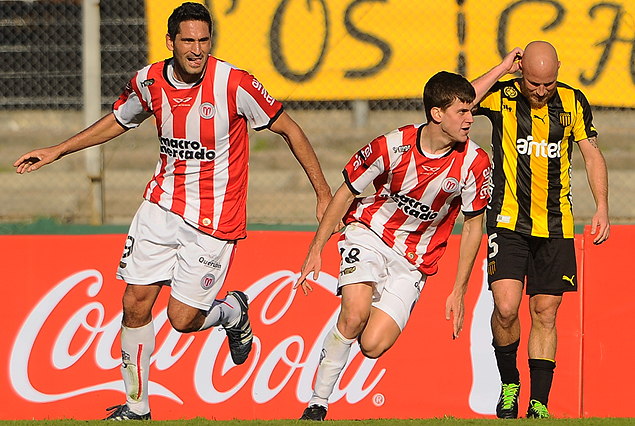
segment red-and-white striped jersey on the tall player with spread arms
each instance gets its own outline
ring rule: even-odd
[[[282,105],[246,71],[209,57],[194,84],[174,78],[172,59],[138,71],[115,102],[126,128],[154,115],[160,158],[144,197],[223,240],[246,236],[249,137]]]

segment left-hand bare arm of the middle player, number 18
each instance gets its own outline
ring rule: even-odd
[[[306,278],[313,272],[313,280],[318,279],[320,269],[322,268],[322,249],[329,238],[331,238],[331,235],[333,235],[336,227],[339,227],[344,214],[346,214],[354,199],[355,194],[343,183],[326,208],[324,217],[309,246],[309,253],[300,271],[300,278],[298,278],[298,282],[293,286],[293,288],[302,287],[305,296],[309,291],[313,291],[313,287],[311,287],[311,284],[309,284]]]

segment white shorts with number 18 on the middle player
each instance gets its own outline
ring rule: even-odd
[[[338,248],[342,255],[338,294],[347,284],[373,283],[373,306],[403,330],[427,277],[360,223],[346,227]]]

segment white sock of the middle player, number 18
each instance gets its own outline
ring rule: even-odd
[[[335,325],[324,338],[322,356],[315,379],[315,389],[309,401],[311,405],[328,407],[328,399],[333,393],[335,383],[348,361],[348,354],[355,339],[347,339]]]

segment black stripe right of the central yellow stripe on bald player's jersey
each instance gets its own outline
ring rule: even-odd
[[[564,127],[560,124],[560,114],[564,113],[562,99],[556,92],[549,101],[549,141],[561,141],[564,138]],[[570,111],[569,111],[570,112]],[[569,150],[571,145],[569,144]],[[562,180],[560,171],[562,170],[561,157],[550,158],[547,166],[547,227],[549,237],[562,238],[562,207],[560,205],[560,194],[562,193]]]

